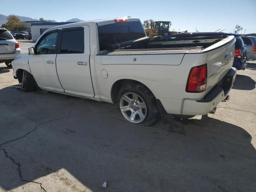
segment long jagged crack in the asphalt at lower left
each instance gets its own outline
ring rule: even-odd
[[[46,190],[45,190],[44,187],[42,186],[42,183],[35,182],[35,181],[30,181],[30,180],[26,180],[26,179],[23,179],[23,178],[22,178],[22,174],[21,174],[21,164],[18,163],[18,162],[16,162],[16,161],[14,160],[14,158],[12,158],[12,156],[9,156],[8,153],[6,152],[6,149],[5,149],[5,148],[2,148],[2,145],[8,144],[8,143],[10,143],[10,142],[14,142],[14,141],[16,141],[16,140],[19,140],[19,139],[22,139],[22,138],[26,137],[26,136],[29,135],[30,133],[34,132],[34,131],[38,128],[38,126],[40,126],[40,125],[42,125],[42,124],[46,124],[46,123],[49,123],[49,122],[52,122],[52,121],[57,121],[57,120],[69,118],[70,115],[71,115],[71,113],[72,113],[72,111],[70,111],[70,113],[69,113],[68,116],[66,116],[66,117],[56,118],[56,119],[52,119],[52,120],[47,120],[47,121],[45,121],[45,122],[42,122],[42,123],[40,123],[40,124],[37,124],[34,129],[32,129],[30,132],[24,134],[24,136],[21,136],[21,137],[18,137],[18,138],[16,138],[16,139],[9,140],[9,141],[6,141],[6,142],[0,144],[0,150],[2,150],[2,151],[4,152],[6,158],[10,159],[13,164],[15,164],[15,165],[18,166],[18,169],[17,169],[17,170],[18,170],[18,173],[19,173],[19,176],[20,176],[20,180],[21,180],[21,181],[24,181],[24,182],[31,182],[31,183],[35,183],[35,184],[40,184],[41,189],[44,190],[44,192],[46,192]]]

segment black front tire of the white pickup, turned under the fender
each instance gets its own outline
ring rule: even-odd
[[[23,92],[32,92],[37,90],[34,77],[29,72],[26,72],[25,70],[22,73],[20,90]]]

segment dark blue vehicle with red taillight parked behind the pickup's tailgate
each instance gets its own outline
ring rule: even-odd
[[[245,70],[246,63],[246,47],[244,46],[244,42],[241,38],[240,34],[234,33],[222,33],[222,32],[196,32],[196,33],[178,33],[172,34],[163,37],[162,39],[174,39],[174,38],[188,38],[188,37],[198,37],[198,36],[235,36],[235,51],[234,51],[234,63],[233,67],[238,70]]]

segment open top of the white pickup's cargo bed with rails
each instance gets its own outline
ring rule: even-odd
[[[150,41],[150,39],[144,37],[134,41],[109,45],[108,50],[104,50],[98,55],[203,53],[223,46],[223,44],[229,43],[231,39],[228,36],[210,36]]]

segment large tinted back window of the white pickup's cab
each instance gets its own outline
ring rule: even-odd
[[[144,29],[139,21],[120,22],[98,27],[100,51],[106,46],[145,37]]]

